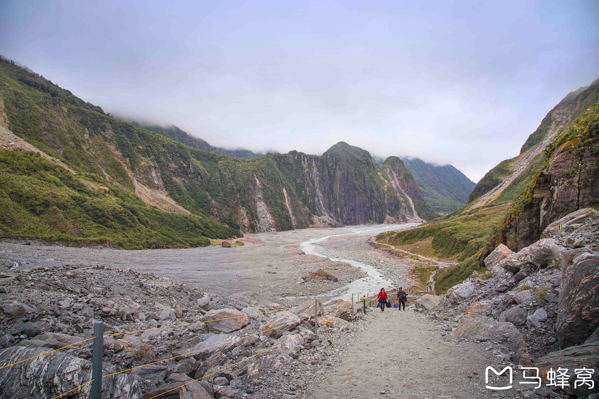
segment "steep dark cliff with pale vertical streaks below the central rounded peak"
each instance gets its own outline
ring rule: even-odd
[[[352,225],[404,223],[435,216],[397,157],[377,165],[368,151],[344,142],[320,157],[298,151],[273,156],[301,203],[315,217]]]

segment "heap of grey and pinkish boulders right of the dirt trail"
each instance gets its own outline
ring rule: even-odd
[[[524,397],[594,398],[596,374],[592,384],[574,380],[576,369],[599,367],[598,215],[592,208],[567,214],[518,252],[497,246],[484,269],[445,296],[420,297],[416,310],[444,321],[446,340],[492,351],[501,367],[537,367],[543,380],[552,367],[570,370],[564,386]]]

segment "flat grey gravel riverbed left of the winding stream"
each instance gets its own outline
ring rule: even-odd
[[[119,249],[70,248],[0,243],[2,270],[17,261],[23,266],[58,266],[61,264],[104,264],[121,269],[136,269],[167,276],[173,281],[196,285],[202,291],[219,296],[249,293],[261,303],[280,300],[285,296],[309,296],[343,287],[364,274],[343,262],[305,255],[298,245],[305,240],[332,234],[368,230],[351,236],[333,237],[335,242],[363,242],[371,234],[399,226],[353,226],[338,229],[302,229],[289,232],[247,234],[244,246],[208,246],[189,249]],[[374,231],[374,233],[372,232]],[[327,240],[328,241],[328,240]],[[340,245],[343,246],[343,243]],[[298,284],[302,276],[318,269],[337,276],[339,281],[314,281]],[[0,270],[1,271],[1,270]],[[269,273],[270,272],[270,273]],[[273,273],[274,272],[274,273]]]

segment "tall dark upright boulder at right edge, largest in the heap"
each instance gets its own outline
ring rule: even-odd
[[[571,252],[576,254],[562,267],[559,286],[556,328],[562,349],[585,342],[599,326],[599,252]]]

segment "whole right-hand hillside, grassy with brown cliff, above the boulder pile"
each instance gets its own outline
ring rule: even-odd
[[[481,179],[463,209],[414,229],[379,234],[377,240],[456,262],[435,273],[437,292],[444,293],[485,270],[485,257],[501,243],[518,251],[537,242],[564,215],[597,208],[597,99],[599,80],[566,96],[518,157],[501,162]]]

